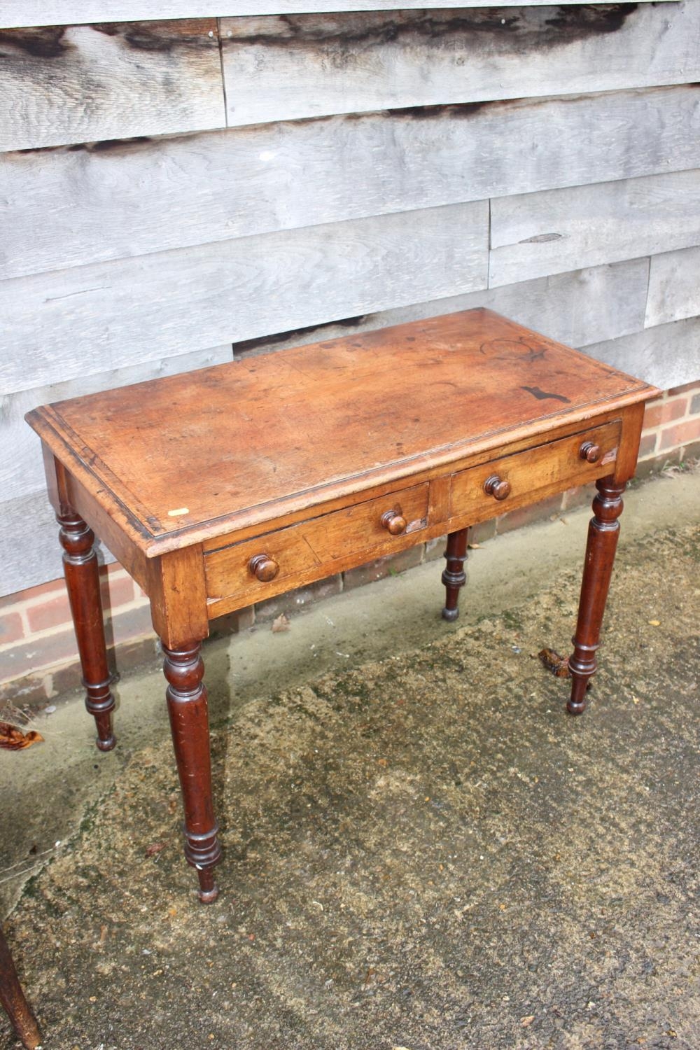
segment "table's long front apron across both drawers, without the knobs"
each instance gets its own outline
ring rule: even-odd
[[[620,433],[617,419],[457,472],[448,469],[420,485],[410,485],[406,479],[405,487],[378,498],[207,551],[209,618],[612,474]],[[582,458],[586,444],[596,446],[595,462]],[[510,486],[506,499],[485,491],[485,482],[492,476]],[[391,511],[405,521],[404,530],[396,536],[383,524]],[[276,566],[273,579],[256,578],[254,566],[260,561],[267,566],[273,563],[271,571]]]

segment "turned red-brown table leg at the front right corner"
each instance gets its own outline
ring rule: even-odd
[[[609,477],[596,481],[595,487],[598,495],[593,500],[594,516],[588,527],[578,622],[576,633],[571,639],[574,651],[569,657],[573,680],[567,710],[572,715],[579,715],[586,710],[586,690],[598,666],[595,654],[600,645],[600,625],[620,531],[617,519],[622,513],[622,492],[625,486],[624,482],[618,483]]]

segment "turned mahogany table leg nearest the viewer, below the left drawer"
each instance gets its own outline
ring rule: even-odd
[[[201,644],[179,649],[163,647],[163,671],[168,679],[168,714],[185,807],[185,856],[197,869],[199,900],[211,904],[218,897],[214,865],[221,857],[216,840],[211,791],[209,716]]]

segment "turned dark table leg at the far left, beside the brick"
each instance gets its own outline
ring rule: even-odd
[[[75,511],[57,514],[57,520],[61,526],[63,570],[83,668],[85,707],[94,716],[98,748],[111,751],[116,743],[111,716],[114,697],[109,689],[112,676],[107,666],[94,533]]]

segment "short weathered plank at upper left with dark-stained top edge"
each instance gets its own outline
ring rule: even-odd
[[[0,150],[226,125],[215,19],[0,33]]]

